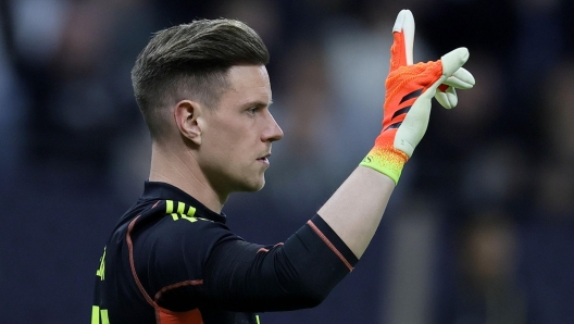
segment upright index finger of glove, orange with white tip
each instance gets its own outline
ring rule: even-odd
[[[390,47],[390,71],[413,63],[414,17],[410,10],[401,10],[392,26]]]

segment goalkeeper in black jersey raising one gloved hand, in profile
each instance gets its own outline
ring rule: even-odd
[[[259,323],[257,312],[319,304],[363,254],[422,138],[430,99],[470,88],[466,49],[412,64],[414,20],[402,11],[375,147],[285,244],[246,242],[225,226],[235,191],[263,187],[283,132],[269,111],[269,54],[230,20],[158,33],[132,73],[152,137],[149,180],[115,226],[97,271],[95,323]],[[440,87],[440,90],[437,88]]]

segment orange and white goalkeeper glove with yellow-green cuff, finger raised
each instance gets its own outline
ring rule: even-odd
[[[433,97],[451,109],[458,103],[456,88],[472,88],[474,77],[461,67],[469,60],[466,48],[458,48],[438,61],[413,65],[414,17],[411,11],[399,12],[392,34],[383,130],[360,165],[382,172],[397,184],[404,163],[426,132]]]

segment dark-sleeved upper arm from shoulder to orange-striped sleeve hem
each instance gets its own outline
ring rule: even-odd
[[[275,246],[247,242],[209,221],[171,226],[141,245],[149,252],[138,273],[154,301],[172,311],[214,304],[242,312],[314,307],[357,263],[319,215]]]

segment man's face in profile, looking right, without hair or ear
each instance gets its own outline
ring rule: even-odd
[[[236,65],[217,108],[203,114],[198,162],[219,195],[255,191],[265,184],[271,142],[283,137],[269,111],[265,66]]]

